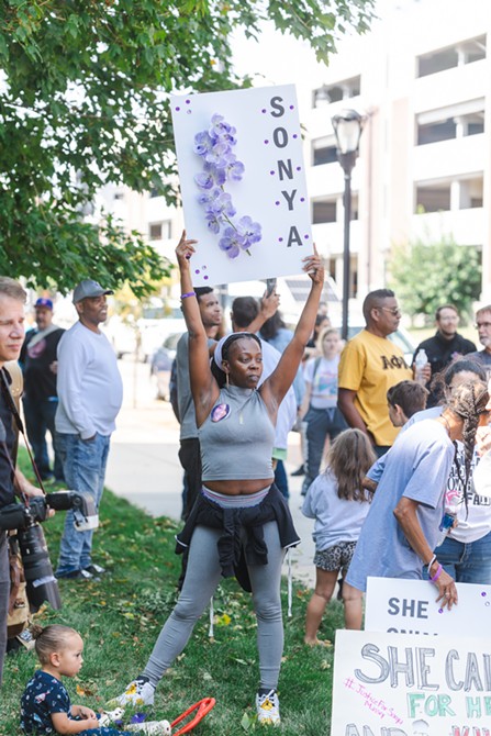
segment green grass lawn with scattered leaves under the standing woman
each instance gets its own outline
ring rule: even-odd
[[[100,582],[60,581],[60,611],[36,615],[42,625],[63,623],[85,640],[85,663],[75,679],[65,678],[72,703],[102,710],[144,667],[155,638],[176,600],[180,557],[174,554],[177,527],[152,518],[107,491],[94,538],[94,561],[108,568]],[[64,514],[43,524],[55,564]],[[293,615],[287,617],[287,584],[282,584],[284,657],[279,696],[284,736],[330,734],[333,648],[303,644],[305,605],[310,591],[293,588]],[[183,654],[164,677],[148,718],[172,721],[202,698],[215,698],[214,710],[194,729],[197,736],[230,736],[263,732],[256,724],[254,699],[258,684],[256,622],[250,596],[234,580],[223,581],[214,600],[214,638],[209,637],[209,612],[198,622]],[[334,640],[343,625],[343,609],[333,602],[321,637]],[[9,656],[1,691],[0,734],[19,729],[19,702],[37,662],[25,650]]]

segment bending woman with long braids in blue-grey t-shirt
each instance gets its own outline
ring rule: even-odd
[[[433,550],[445,513],[455,443],[464,443],[467,482],[477,428],[489,419],[488,401],[486,383],[468,381],[453,392],[440,416],[417,422],[401,433],[387,454],[345,586],[366,590],[369,575],[421,579],[426,565],[429,580],[438,589],[436,600],[448,609],[457,603],[455,581]],[[349,588],[344,591],[348,593]]]

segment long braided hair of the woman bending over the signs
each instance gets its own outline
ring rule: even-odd
[[[484,381],[475,380],[462,383],[457,389],[455,389],[446,408],[464,421],[464,479],[461,478],[457,454],[456,466],[459,479],[464,483],[464,500],[466,503],[466,510],[468,509],[467,486],[469,482],[470,468],[472,465],[472,456],[476,445],[476,432],[479,426],[480,415],[487,411],[486,406],[488,401],[489,393],[487,384]]]

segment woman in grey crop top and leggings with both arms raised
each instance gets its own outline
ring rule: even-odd
[[[299,537],[288,505],[274,484],[271,451],[278,406],[295,377],[312,332],[324,269],[316,253],[303,259],[312,280],[309,298],[276,370],[258,388],[263,363],[255,334],[241,332],[222,338],[210,366],[207,335],[191,283],[189,259],[194,244],[182,233],[176,255],[189,333],[203,488],[178,535],[178,551],[189,546],[179,600],[142,674],[118,702],[153,703],[155,688],[188,643],[220,578],[235,576],[243,588],[252,590],[257,617],[258,721],[277,724],[280,717],[276,689],[283,650],[281,564],[284,549],[297,545]]]

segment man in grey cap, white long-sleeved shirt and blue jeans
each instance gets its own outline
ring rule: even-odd
[[[102,497],[105,464],[123,384],[110,342],[99,330],[108,317],[107,295],[86,279],[74,290],[78,322],[58,345],[56,441],[65,481],[70,490],[90,493],[96,506]],[[57,578],[93,579],[104,570],[92,562],[92,532],[78,532],[68,511],[62,537]]]

